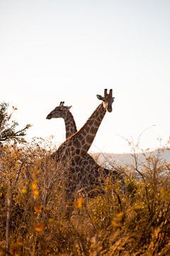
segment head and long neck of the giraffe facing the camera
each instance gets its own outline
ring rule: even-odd
[[[107,89],[105,89],[104,97],[101,95],[97,95],[97,97],[98,100],[102,100],[102,103],[98,105],[84,126],[59,146],[57,151],[53,154],[56,160],[63,162],[68,159],[68,157],[71,157],[74,165],[79,167],[79,159],[81,159],[89,150],[103,117],[107,111],[112,112],[112,104],[114,101],[112,90],[110,90],[108,94]],[[76,159],[77,163],[75,161]]]

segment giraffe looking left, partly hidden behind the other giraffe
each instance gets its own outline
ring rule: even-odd
[[[47,115],[47,119],[52,118],[63,118],[65,129],[66,129],[66,139],[68,139],[72,134],[77,132],[76,122],[74,121],[74,117],[72,113],[69,111],[72,106],[64,106],[64,102],[60,102],[60,105],[55,107],[54,110]],[[86,170],[86,174],[89,174],[88,177],[91,180],[91,176],[94,175],[98,178],[98,181],[95,181],[95,184],[103,181],[103,178],[111,175],[113,182],[116,178],[120,180],[120,189],[122,193],[125,193],[125,181],[123,176],[116,170],[108,170],[106,168],[102,168],[99,166],[94,158],[86,153],[84,155],[83,160],[81,160],[81,169]],[[84,171],[83,170],[83,171]]]

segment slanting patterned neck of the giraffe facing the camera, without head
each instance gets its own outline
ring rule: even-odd
[[[91,114],[91,117],[89,117],[84,126],[81,127],[79,132],[70,137],[70,140],[73,142],[73,146],[75,145],[79,147],[80,154],[82,156],[87,153],[92,142],[94,141],[98,128],[105,114],[106,110],[103,107],[103,103],[101,103],[96,108],[94,113]]]

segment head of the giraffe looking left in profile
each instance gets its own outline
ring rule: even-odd
[[[71,108],[64,106],[64,102],[60,102],[60,105],[58,107],[55,107],[54,110],[52,110],[52,112],[50,112],[50,114],[47,115],[46,119],[51,119],[51,118],[58,118],[58,117],[66,117],[67,116],[67,112],[69,111],[69,109]]]

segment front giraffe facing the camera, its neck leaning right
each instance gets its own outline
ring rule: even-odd
[[[101,178],[101,170],[93,168],[94,161],[91,158],[90,163],[84,156],[87,154],[91,143],[94,141],[98,127],[106,114],[106,111],[112,112],[112,90],[109,94],[107,89],[104,91],[104,97],[97,95],[98,100],[102,103],[96,108],[91,117],[87,120],[79,132],[74,133],[64,143],[62,143],[57,151],[52,154],[52,158],[62,163],[62,170],[67,171],[67,196],[72,198],[74,191],[79,191],[83,187],[99,185],[98,180]],[[68,166],[69,161],[69,166]],[[103,172],[104,173],[104,172]],[[105,174],[105,173],[104,173]],[[105,175],[108,175],[108,171]]]

